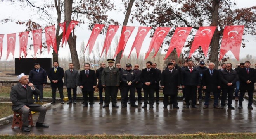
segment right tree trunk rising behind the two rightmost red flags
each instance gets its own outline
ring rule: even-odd
[[[219,7],[220,2],[219,0],[213,0],[213,9],[212,9],[212,17],[211,17],[211,26],[218,25],[218,14],[219,14]],[[216,66],[215,68],[218,69],[219,65],[219,43],[220,43],[220,34],[218,28],[216,28],[213,38],[211,39],[211,62],[213,62]]]

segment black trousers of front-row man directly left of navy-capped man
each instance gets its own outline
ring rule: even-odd
[[[192,106],[196,105],[196,91],[197,86],[185,86],[185,101],[186,105],[190,105],[190,100],[192,100]]]

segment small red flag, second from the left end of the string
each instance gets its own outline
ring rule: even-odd
[[[6,54],[6,60],[8,59],[8,56],[9,56],[10,53],[12,53],[12,55],[14,57],[15,41],[16,41],[16,33],[7,34],[7,54]]]

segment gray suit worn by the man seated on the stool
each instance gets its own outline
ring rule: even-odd
[[[23,126],[28,126],[28,116],[30,111],[34,112],[40,112],[40,115],[38,117],[38,122],[43,123],[45,119],[46,114],[46,108],[35,104],[35,100],[33,99],[34,95],[39,95],[40,90],[35,88],[35,90],[31,90],[30,87],[27,86],[27,88],[24,88],[21,83],[18,83],[17,85],[12,86],[11,92],[10,92],[10,99],[12,101],[12,110],[14,112],[22,113],[22,122]],[[30,108],[25,108],[24,106],[27,106]]]

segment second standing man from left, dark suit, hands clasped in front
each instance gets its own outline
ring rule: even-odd
[[[56,103],[56,90],[58,88],[61,103],[64,104],[64,96],[63,96],[63,77],[64,77],[64,70],[63,68],[59,67],[58,61],[54,61],[54,67],[50,69],[48,78],[51,81],[52,87],[52,102],[51,104]]]

